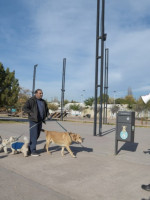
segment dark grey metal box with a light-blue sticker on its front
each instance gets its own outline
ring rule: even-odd
[[[116,118],[116,140],[134,142],[135,112],[119,111]]]

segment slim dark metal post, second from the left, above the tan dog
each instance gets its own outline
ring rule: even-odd
[[[62,72],[62,89],[61,89],[61,120],[62,121],[63,121],[63,112],[64,112],[65,70],[66,70],[66,58],[63,59],[63,72]]]

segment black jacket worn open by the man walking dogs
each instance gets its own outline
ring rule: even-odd
[[[48,107],[47,107],[46,101],[43,99],[41,99],[41,101],[43,101],[44,105],[45,105],[45,113],[44,113],[44,119],[43,119],[43,121],[44,121],[49,113],[48,113]],[[38,105],[37,105],[35,96],[33,96],[27,100],[27,102],[25,103],[25,105],[23,107],[23,111],[25,113],[28,113],[29,120],[38,122]]]

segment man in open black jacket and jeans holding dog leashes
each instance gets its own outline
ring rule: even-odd
[[[43,92],[41,89],[35,91],[35,95],[25,103],[23,110],[28,113],[29,126],[30,126],[30,143],[29,153],[31,156],[39,156],[36,152],[37,140],[40,136],[42,129],[42,122],[48,116],[48,107],[45,100],[42,99]]]

